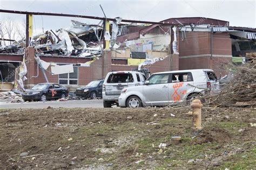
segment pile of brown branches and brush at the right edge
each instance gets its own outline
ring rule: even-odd
[[[216,107],[256,105],[256,58],[241,66],[231,69],[230,81],[228,81],[219,94],[208,94],[203,98],[206,104],[214,104]]]

